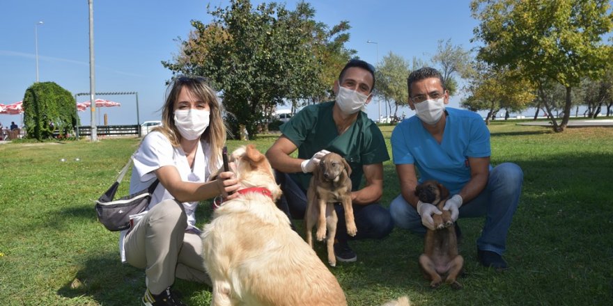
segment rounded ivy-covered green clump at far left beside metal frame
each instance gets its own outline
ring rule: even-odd
[[[34,83],[24,95],[24,124],[28,138],[52,138],[54,131],[66,135],[79,124],[77,102],[54,82]]]

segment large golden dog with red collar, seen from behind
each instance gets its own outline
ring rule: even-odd
[[[242,195],[216,209],[202,234],[211,305],[346,305],[339,282],[274,204],[281,189],[265,156],[248,145],[230,160]]]

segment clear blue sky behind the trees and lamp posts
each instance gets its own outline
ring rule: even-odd
[[[36,81],[36,39],[40,81],[54,81],[75,95],[89,92],[89,17],[87,0],[8,0],[0,11],[0,103],[21,101],[25,90]],[[260,2],[260,1],[253,1]],[[297,1],[277,1],[295,8]],[[171,72],[162,67],[178,53],[176,38],[187,38],[189,21],[211,21],[206,6],[228,5],[228,1],[94,0],[94,52],[96,92],[138,92],[139,120],[160,118]],[[406,60],[428,61],[438,40],[451,38],[465,49],[477,26],[470,16],[470,1],[362,1],[314,0],[315,19],[328,26],[341,20],[351,25],[347,47],[357,56],[375,63],[390,51]],[[43,24],[36,25],[39,21]],[[36,28],[36,30],[35,30]],[[378,44],[368,44],[371,40]],[[330,84],[332,86],[332,84]],[[96,108],[95,120],[104,114],[109,124],[136,124],[134,95],[96,96],[121,102],[121,107]],[[89,99],[80,96],[77,102]],[[458,107],[460,97],[450,106]],[[378,117],[378,102],[367,107],[370,118]],[[382,115],[385,108],[382,105]],[[406,115],[412,111],[405,109]],[[398,112],[398,115],[401,111]],[[79,112],[89,125],[91,111]],[[20,123],[20,115],[0,115],[3,125]]]

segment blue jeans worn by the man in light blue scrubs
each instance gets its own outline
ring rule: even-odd
[[[486,224],[476,241],[479,250],[488,250],[502,255],[506,250],[506,234],[511,227],[513,214],[522,193],[524,174],[515,163],[502,163],[490,171],[488,185],[476,198],[460,207],[459,218],[486,216]],[[424,234],[426,227],[402,195],[389,204],[391,218],[396,226],[417,234]]]

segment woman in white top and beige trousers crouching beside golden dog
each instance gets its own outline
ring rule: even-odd
[[[195,210],[199,201],[238,189],[232,172],[222,172],[226,127],[221,106],[201,77],[178,77],[166,93],[162,125],[155,127],[134,154],[130,193],[159,179],[148,211],[121,233],[122,261],[144,268],[144,305],[184,305],[171,291],[175,277],[210,284],[201,257]]]

